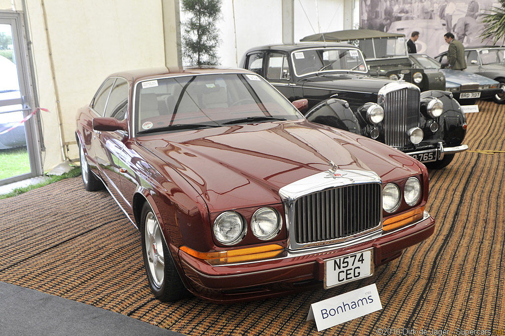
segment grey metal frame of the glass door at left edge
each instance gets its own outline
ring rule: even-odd
[[[24,101],[23,108],[29,108],[29,111],[23,112],[26,117],[37,106],[34,99],[35,82],[31,71],[31,49],[28,49],[28,38],[26,37],[28,32],[24,30],[26,22],[21,12],[0,11],[0,24],[10,24],[12,28],[14,57],[16,58],[16,66],[18,69],[19,89]],[[39,118],[37,112],[32,118],[25,122],[26,147],[30,161],[30,172],[2,179],[0,180],[0,185],[42,175],[42,160],[38,134],[39,128],[36,122],[40,120]]]

